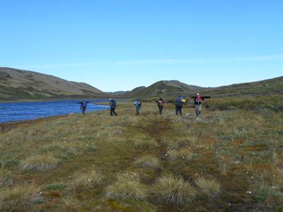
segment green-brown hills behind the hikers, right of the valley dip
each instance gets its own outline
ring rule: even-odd
[[[185,95],[187,97],[195,95],[197,92],[214,97],[279,95],[283,94],[283,76],[264,81],[238,83],[216,88],[189,86],[180,81],[158,81],[149,87],[134,88],[132,91],[120,92],[119,95],[120,97],[140,97],[151,100],[159,96],[167,99],[175,98],[176,95]]]

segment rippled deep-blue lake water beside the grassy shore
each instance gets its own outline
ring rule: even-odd
[[[5,102],[0,103],[0,123],[19,122],[44,117],[80,113],[83,100],[59,100],[52,102]],[[108,100],[87,100],[90,103],[106,102]],[[86,112],[107,110],[108,106],[88,104]]]

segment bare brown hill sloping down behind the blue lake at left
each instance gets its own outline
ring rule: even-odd
[[[47,98],[103,98],[103,91],[86,83],[0,67],[0,100],[35,100]]]

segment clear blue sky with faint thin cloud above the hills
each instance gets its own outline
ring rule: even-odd
[[[283,1],[0,0],[0,66],[104,91],[283,75]]]

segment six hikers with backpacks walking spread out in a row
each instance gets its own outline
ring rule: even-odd
[[[195,114],[196,116],[200,116],[202,112],[202,102],[204,101],[205,98],[210,98],[210,97],[202,97],[200,93],[197,93],[194,98],[194,103],[195,103]],[[157,102],[159,114],[162,114],[163,112],[163,107],[165,105],[165,102],[163,101],[162,98],[160,98]],[[183,96],[179,95],[177,100],[175,101],[175,114],[176,115],[181,115],[183,116],[183,105],[185,104],[186,100],[183,98]],[[88,102],[80,102],[81,103],[81,113],[85,114],[86,112],[86,107]],[[113,100],[112,98],[109,99],[109,105],[110,105],[110,116],[117,116],[117,112],[115,112],[116,107],[117,107],[117,102]],[[136,107],[136,114],[139,115],[141,114],[141,100],[137,98],[137,100],[134,102],[134,105]]]

